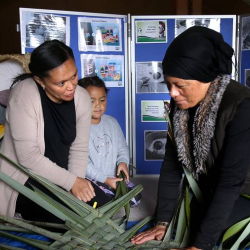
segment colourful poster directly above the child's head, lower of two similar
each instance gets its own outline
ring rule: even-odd
[[[124,87],[124,56],[81,54],[82,77],[98,76],[107,87]]]

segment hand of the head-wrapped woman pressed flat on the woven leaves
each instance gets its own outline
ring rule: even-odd
[[[166,226],[155,226],[145,232],[139,233],[131,238],[133,244],[139,245],[149,240],[162,240],[167,232]]]

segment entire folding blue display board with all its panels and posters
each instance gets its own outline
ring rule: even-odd
[[[245,20],[248,30],[250,21]],[[160,172],[167,138],[164,101],[170,100],[161,62],[173,39],[194,25],[220,32],[236,48],[235,15],[127,19],[124,15],[20,9],[22,53],[45,40],[61,40],[74,51],[79,77],[98,75],[110,88],[106,113],[118,120],[126,136],[135,175]],[[248,36],[247,31],[244,34]],[[248,76],[250,80],[248,40],[240,52],[244,83]]]

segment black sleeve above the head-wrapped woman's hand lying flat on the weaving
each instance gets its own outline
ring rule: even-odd
[[[155,220],[169,222],[178,198],[182,167],[176,149],[167,137],[165,158],[161,166]]]

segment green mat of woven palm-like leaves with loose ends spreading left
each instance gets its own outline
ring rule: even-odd
[[[38,249],[167,249],[170,248],[169,241],[150,241],[144,245],[135,246],[129,240],[145,224],[152,220],[147,217],[134,227],[126,230],[126,223],[129,217],[129,201],[142,191],[142,185],[138,185],[130,192],[126,193],[125,181],[120,182],[117,187],[116,200],[106,205],[94,209],[86,203],[80,201],[64,189],[54,185],[45,178],[29,172],[25,167],[14,163],[0,153],[4,160],[9,161],[18,169],[23,171],[33,180],[42,184],[45,188],[56,195],[61,203],[55,201],[36,187],[34,191],[13,180],[3,172],[0,172],[0,180],[6,182],[13,189],[25,195],[41,207],[65,221],[65,225],[33,223],[24,220],[12,219],[0,215],[0,220],[11,223],[11,227],[0,225],[0,235],[14,240],[25,242]],[[122,177],[122,176],[121,176]],[[126,194],[125,194],[126,193]],[[112,219],[121,209],[125,208],[125,216]],[[18,227],[18,228],[17,228]],[[22,229],[23,228],[23,231]],[[46,228],[46,229],[45,229]],[[65,230],[63,235],[50,231],[48,228],[61,228]],[[19,231],[25,233],[37,233],[50,238],[53,243],[25,239],[20,236],[9,234],[6,231]],[[173,245],[171,245],[172,247]],[[11,248],[13,249],[13,248]]]

